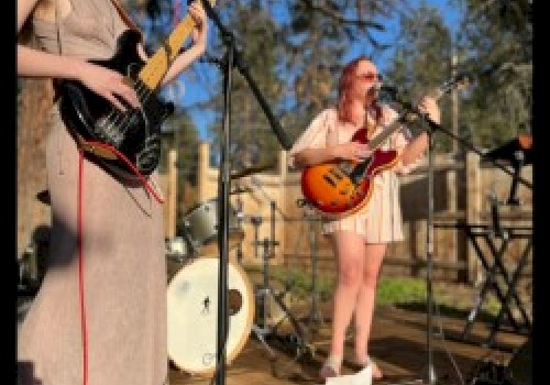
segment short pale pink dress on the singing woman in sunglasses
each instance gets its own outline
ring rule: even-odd
[[[388,107],[384,107],[383,117],[383,125],[376,127],[373,136],[378,135],[387,124],[395,120],[397,114]],[[370,120],[373,121],[371,118]],[[359,127],[352,123],[339,121],[337,110],[333,108],[321,111],[290,148],[290,166],[294,166],[294,157],[301,150],[323,148],[327,145],[348,143],[358,129]],[[381,148],[395,148],[402,152],[409,140],[408,130],[402,127],[389,135]],[[323,234],[346,230],[362,235],[366,243],[403,241],[398,174],[409,173],[413,166],[405,167],[398,162],[393,169],[378,174],[374,178],[373,194],[367,205],[342,219],[323,219]]]

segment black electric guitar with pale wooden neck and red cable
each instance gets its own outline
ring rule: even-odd
[[[161,124],[174,111],[172,102],[158,98],[158,86],[194,26],[190,15],[184,18],[146,63],[139,56],[140,34],[133,30],[119,36],[111,58],[90,61],[127,76],[140,109],[122,112],[79,81],[59,82],[62,117],[84,150],[111,169],[153,173],[161,157]]]

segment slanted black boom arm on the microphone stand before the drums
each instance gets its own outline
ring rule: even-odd
[[[226,29],[226,26],[221,23],[220,18],[216,13],[216,11],[212,9],[212,6],[210,4],[210,2],[208,0],[201,0],[201,2],[202,2],[202,6],[205,7],[205,10],[206,10],[208,16],[210,19],[212,19],[215,24],[221,31],[221,34],[223,36],[223,41],[226,42],[228,36],[233,36],[233,34],[231,32],[229,32]],[[234,37],[233,37],[233,41],[234,41]],[[290,147],[293,146],[290,140],[288,139],[285,131],[283,130],[280,122],[273,114],[273,111],[270,108],[270,105],[265,100],[264,96],[260,91],[257,84],[254,81],[254,79],[250,75],[248,66],[245,66],[243,64],[242,56],[241,56],[238,48],[235,48],[233,61],[234,61],[234,65],[237,66],[237,68],[241,73],[241,75],[246,79],[246,82],[249,84],[250,89],[252,90],[252,92],[256,97],[256,99],[260,103],[260,107],[262,107],[262,110],[264,111],[265,116],[267,117],[267,120],[270,121],[272,130],[275,133],[275,135],[277,136],[278,142],[280,143],[283,148],[290,150]]]

